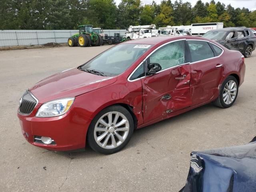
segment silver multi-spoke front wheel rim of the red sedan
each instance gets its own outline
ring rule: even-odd
[[[120,146],[129,133],[129,122],[124,114],[112,111],[100,117],[94,127],[96,143],[105,149]]]

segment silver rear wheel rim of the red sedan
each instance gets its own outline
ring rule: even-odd
[[[227,105],[231,104],[236,98],[236,92],[237,92],[236,82],[234,80],[228,81],[224,87],[223,94],[222,94],[224,103]]]

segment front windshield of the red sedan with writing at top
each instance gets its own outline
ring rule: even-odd
[[[116,76],[128,69],[151,45],[120,44],[106,50],[78,69],[100,72],[103,76]],[[98,75],[100,75],[98,73]]]

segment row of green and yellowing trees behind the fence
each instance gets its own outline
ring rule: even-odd
[[[194,7],[182,0],[162,0],[143,5],[141,0],[1,0],[0,30],[78,29],[92,24],[103,29],[124,29],[130,25],[190,25],[223,22],[224,27],[256,27],[256,11],[234,8],[208,0]]]

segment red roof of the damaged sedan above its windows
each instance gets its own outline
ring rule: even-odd
[[[155,44],[162,44],[162,43],[165,43],[165,42],[178,40],[178,39],[201,39],[201,40],[206,40],[205,38],[196,37],[196,36],[164,36],[164,37],[161,37],[161,36],[159,37],[158,36],[158,37],[150,37],[150,38],[141,38],[141,39],[130,40],[130,41],[126,41],[124,43],[153,44],[153,45],[155,45]]]

